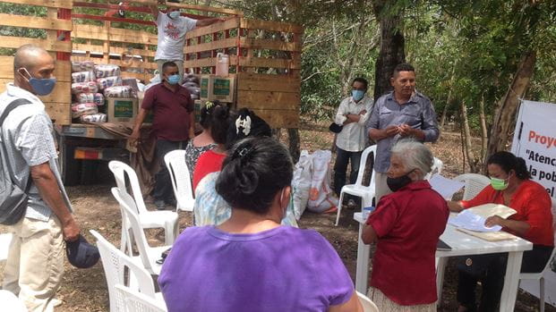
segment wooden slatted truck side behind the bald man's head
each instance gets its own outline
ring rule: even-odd
[[[9,4],[36,5],[45,7],[47,16],[26,16],[0,13],[0,26],[18,29],[46,30],[47,38],[24,38],[0,36],[0,47],[18,48],[25,44],[35,44],[45,48],[56,59],[56,88],[46,96],[40,97],[47,107],[47,113],[57,124],[70,124],[71,103],[71,63],[64,60],[72,52],[72,42],[64,41],[59,35],[72,30],[72,21],[58,17],[59,9],[71,10],[72,1],[66,0],[1,0]],[[69,39],[69,38],[68,38]],[[0,56],[0,92],[4,92],[5,84],[13,81],[13,55]]]

